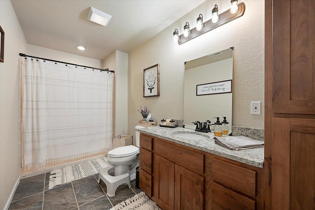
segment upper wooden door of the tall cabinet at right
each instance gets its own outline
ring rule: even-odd
[[[273,11],[273,113],[315,114],[315,0],[273,0]]]

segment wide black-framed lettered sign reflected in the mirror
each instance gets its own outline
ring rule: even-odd
[[[196,85],[196,95],[212,95],[232,92],[232,80]]]

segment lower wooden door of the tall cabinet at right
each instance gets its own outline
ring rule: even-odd
[[[315,209],[315,120],[274,118],[272,209]]]

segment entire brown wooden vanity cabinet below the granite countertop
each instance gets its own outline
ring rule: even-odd
[[[143,133],[139,184],[162,210],[263,209],[261,168]]]

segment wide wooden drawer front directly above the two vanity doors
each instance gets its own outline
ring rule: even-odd
[[[155,153],[180,165],[194,173],[203,175],[204,154],[193,150],[165,143],[158,139],[154,142]]]

